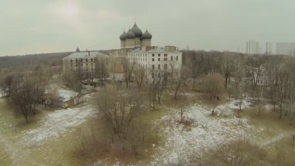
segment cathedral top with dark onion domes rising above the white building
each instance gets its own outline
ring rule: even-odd
[[[146,30],[142,33],[134,22],[134,25],[129,31],[124,32],[120,35],[121,49],[133,49],[139,47],[151,46],[152,35]]]

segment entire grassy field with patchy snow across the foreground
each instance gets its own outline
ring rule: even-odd
[[[210,101],[208,95],[185,89],[174,100],[174,93],[164,92],[156,110],[146,100],[142,114],[135,118],[131,135],[138,139],[138,155],[127,149],[129,143],[111,139],[112,131],[91,102],[66,110],[38,107],[38,114],[16,119],[13,111],[0,99],[0,161],[1,166],[83,166],[111,164],[169,165],[186,158],[196,149],[213,147],[217,142],[245,137],[269,151],[269,160],[284,149],[287,159],[294,154],[292,133],[287,117],[264,109],[258,116],[255,108],[243,103],[241,117],[235,101]],[[148,99],[148,97],[147,97]],[[217,105],[212,116],[212,105]],[[180,108],[184,119],[180,123]],[[268,107],[267,107],[268,108]],[[252,113],[252,114],[251,114]],[[81,155],[78,132],[95,131],[98,149],[92,158]],[[144,131],[144,132],[143,132]],[[142,135],[141,135],[142,134]],[[144,138],[143,138],[144,137]],[[157,139],[156,139],[157,138]],[[143,140],[143,141],[142,141]],[[124,148],[125,147],[125,148]],[[197,151],[201,152],[201,151]]]

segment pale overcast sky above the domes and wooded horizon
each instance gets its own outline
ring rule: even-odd
[[[295,0],[0,0],[0,56],[118,49],[132,27],[152,45],[246,50],[295,42]]]

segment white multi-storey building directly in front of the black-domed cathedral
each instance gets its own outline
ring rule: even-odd
[[[148,78],[150,73],[154,75],[153,71],[166,71],[171,73],[171,68],[174,68],[174,77],[179,77],[179,70],[182,64],[182,52],[176,50],[174,46],[147,46],[138,48],[128,52],[127,58],[130,61],[136,61],[139,66],[144,67]]]

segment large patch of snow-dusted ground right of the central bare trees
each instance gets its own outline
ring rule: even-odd
[[[244,101],[242,107],[248,106],[249,103]],[[162,130],[166,135],[166,142],[164,148],[158,148],[159,153],[154,155],[154,164],[177,164],[180,160],[188,161],[189,154],[200,154],[202,149],[211,148],[218,143],[241,137],[255,137],[251,135],[255,129],[248,120],[234,116],[232,109],[238,108],[236,101],[231,101],[216,107],[217,117],[213,117],[209,116],[212,108],[191,105],[184,113],[185,119],[193,121],[188,131],[185,125],[178,122],[179,111],[175,110],[172,116],[164,116],[165,127]]]

